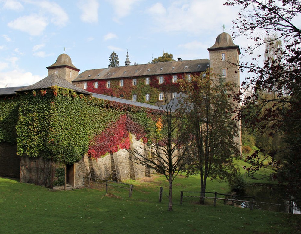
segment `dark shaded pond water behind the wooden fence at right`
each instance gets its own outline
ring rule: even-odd
[[[301,214],[300,198],[289,196],[282,185],[254,183],[248,186],[246,194],[255,196],[255,209]]]

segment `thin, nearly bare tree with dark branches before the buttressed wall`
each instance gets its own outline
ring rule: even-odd
[[[153,141],[149,142],[145,154],[144,149],[131,149],[132,161],[154,169],[163,174],[169,182],[168,210],[172,211],[172,183],[175,177],[188,163],[188,152],[191,146],[189,134],[185,130],[182,116],[173,111],[174,99],[165,97],[162,115],[156,122]],[[183,125],[184,124],[184,125]]]

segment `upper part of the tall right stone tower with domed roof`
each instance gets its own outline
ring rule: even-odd
[[[238,45],[233,43],[231,36],[222,32],[216,38],[215,44],[208,48],[210,54],[210,68],[213,73],[221,74],[226,81],[237,84],[239,88],[239,55]]]

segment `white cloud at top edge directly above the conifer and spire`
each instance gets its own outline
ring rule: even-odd
[[[114,21],[119,21],[120,18],[123,18],[130,14],[132,10],[132,5],[140,0],[109,0],[109,2],[113,5],[115,17]]]

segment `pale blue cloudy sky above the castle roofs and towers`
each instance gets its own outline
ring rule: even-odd
[[[115,51],[119,66],[174,59],[209,59],[207,48],[232,34],[239,8],[225,0],[0,0],[0,88],[30,85],[64,53],[80,72],[106,68]],[[244,61],[246,38],[235,38]],[[241,80],[244,78],[242,77]]]

